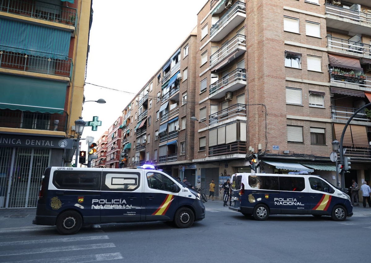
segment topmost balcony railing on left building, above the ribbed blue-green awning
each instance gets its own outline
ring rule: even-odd
[[[77,11],[47,1],[2,0],[0,11],[76,26]]]

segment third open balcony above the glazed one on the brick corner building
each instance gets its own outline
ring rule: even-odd
[[[210,70],[218,70],[246,51],[246,36],[237,34],[210,57]]]

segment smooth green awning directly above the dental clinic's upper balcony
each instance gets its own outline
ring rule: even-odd
[[[0,74],[0,109],[63,114],[66,82]]]

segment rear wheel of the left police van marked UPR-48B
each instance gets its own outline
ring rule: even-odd
[[[58,216],[56,226],[62,235],[76,234],[82,227],[82,217],[77,211],[64,211]]]

